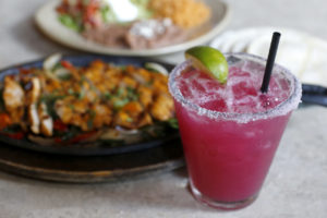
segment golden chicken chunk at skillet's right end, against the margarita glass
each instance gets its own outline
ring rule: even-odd
[[[150,108],[152,116],[160,121],[168,120],[172,118],[173,114],[173,100],[167,94],[161,94],[157,96],[155,102]]]

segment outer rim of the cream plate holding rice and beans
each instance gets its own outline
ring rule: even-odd
[[[207,0],[208,1],[208,0]],[[88,52],[96,52],[96,53],[102,53],[102,55],[117,55],[117,56],[135,56],[135,57],[148,57],[148,56],[161,56],[161,55],[168,55],[178,51],[185,50],[187,48],[191,48],[196,45],[208,43],[210,39],[213,39],[215,36],[217,36],[228,24],[231,17],[231,8],[226,1],[222,0],[210,0],[215,1],[215,3],[219,3],[221,7],[223,7],[223,15],[220,19],[218,23],[214,24],[214,27],[203,34],[202,36],[198,36],[194,39],[175,44],[168,47],[162,48],[156,48],[156,49],[143,49],[143,50],[131,50],[131,49],[119,49],[119,48],[106,48],[101,45],[98,45],[96,43],[89,41],[84,39],[82,36],[81,39],[83,43],[85,43],[83,46],[77,44],[72,44],[65,39],[60,38],[58,35],[53,34],[50,28],[47,27],[47,23],[45,22],[45,19],[43,16],[43,13],[45,12],[51,12],[55,11],[53,7],[56,7],[59,2],[59,0],[51,0],[45,4],[43,4],[34,14],[34,22],[37,26],[37,28],[46,35],[51,40],[59,43],[61,45],[64,45],[66,47],[77,49],[77,50],[84,50]],[[53,20],[51,20],[53,21]],[[64,27],[64,26],[62,26]],[[72,34],[76,34],[72,32]],[[86,46],[85,46],[86,45]],[[81,47],[82,46],[82,47]]]

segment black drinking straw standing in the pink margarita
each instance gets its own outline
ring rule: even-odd
[[[269,48],[269,55],[268,55],[268,60],[266,63],[266,69],[265,69],[265,75],[262,84],[262,93],[267,93],[268,92],[268,86],[269,86],[269,81],[276,59],[276,53],[278,49],[278,44],[279,44],[279,38],[280,38],[280,33],[275,32],[272,34],[271,43],[270,43],[270,48]]]

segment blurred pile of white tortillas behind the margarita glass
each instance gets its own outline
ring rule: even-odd
[[[276,62],[290,69],[303,83],[327,86],[327,41],[283,27],[229,31],[210,44],[222,52],[249,52],[267,57],[274,32],[280,32]]]

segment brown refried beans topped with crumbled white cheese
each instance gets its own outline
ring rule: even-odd
[[[82,35],[89,40],[114,48],[152,49],[184,41],[185,29],[169,19],[136,21],[129,25],[109,24],[90,27]]]

